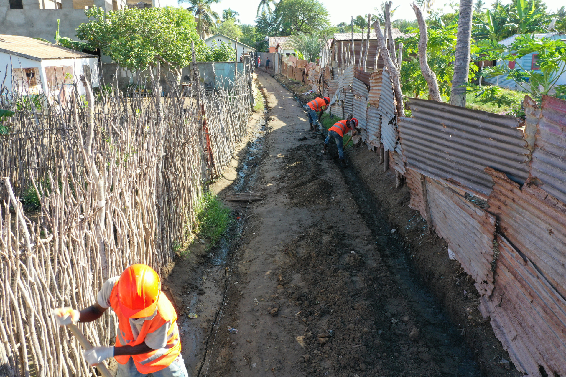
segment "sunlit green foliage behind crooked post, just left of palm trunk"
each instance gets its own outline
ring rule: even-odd
[[[454,52],[456,51],[457,23],[451,23],[447,27],[430,28],[428,30],[428,66],[436,73],[440,94],[449,97],[452,90],[452,76],[454,74]],[[418,29],[409,29],[415,32],[415,36],[400,38],[403,42],[404,61],[401,65],[401,83],[405,94],[414,94],[421,97],[428,93],[428,85],[421,73],[418,58],[418,44],[420,34]],[[475,47],[472,46],[474,52]],[[475,64],[470,64],[469,77],[474,77],[477,71]]]

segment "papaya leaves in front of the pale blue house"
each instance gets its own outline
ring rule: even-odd
[[[514,68],[509,68],[508,64],[500,64],[496,67],[487,67],[482,70],[482,76],[495,77],[504,75],[505,78],[512,79],[521,85],[535,101],[540,101],[543,94],[551,95],[554,89],[554,96],[563,98],[565,85],[556,88],[556,81],[561,75],[566,73],[566,44],[560,40],[550,40],[549,38],[534,38],[534,36],[522,35],[509,46],[500,45],[495,41],[482,40],[478,42],[479,53],[484,55],[486,60],[507,60],[515,62]],[[538,54],[537,62],[540,69],[529,70],[522,67],[518,59],[525,55]],[[504,99],[499,98],[496,93],[485,93],[480,88],[469,86],[469,89],[479,96],[490,98],[493,101]],[[497,97],[497,98],[496,98]]]

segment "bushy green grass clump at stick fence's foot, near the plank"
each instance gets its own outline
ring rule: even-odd
[[[233,222],[230,209],[212,193],[204,193],[196,203],[195,215],[194,232],[201,238],[210,239],[209,249],[218,245]]]

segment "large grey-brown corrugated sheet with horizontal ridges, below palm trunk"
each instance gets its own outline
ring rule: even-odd
[[[401,118],[398,131],[410,168],[483,197],[493,184],[483,171],[486,166],[520,183],[527,179],[530,151],[513,116],[425,99],[411,98],[408,103],[413,117]]]

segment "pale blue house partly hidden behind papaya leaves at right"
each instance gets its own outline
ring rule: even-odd
[[[511,45],[518,36],[521,34],[514,34],[511,37],[507,37],[504,40],[499,41],[500,45],[509,46]],[[564,40],[566,39],[566,34],[563,32],[552,32],[552,33],[541,33],[541,34],[530,34],[533,35],[535,38],[549,38],[551,40]],[[500,60],[497,62],[497,66],[503,66],[507,64],[509,68],[522,68],[522,71],[530,71],[530,70],[538,70],[537,66],[537,55],[536,53],[530,53],[525,55],[524,57],[517,59],[515,62],[509,62],[509,60]],[[490,77],[489,79],[484,79],[484,83],[489,83],[492,85],[501,86],[501,88],[508,88],[514,90],[520,90],[521,87],[515,83],[514,80],[508,79],[507,75],[499,75],[495,77]],[[557,85],[559,84],[566,84],[566,76],[560,77],[560,79],[556,82]]]

